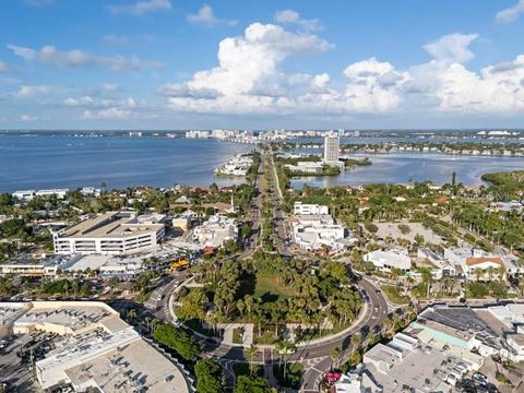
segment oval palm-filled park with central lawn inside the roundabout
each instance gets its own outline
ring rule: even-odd
[[[285,260],[255,253],[251,260],[209,259],[194,269],[201,287],[184,290],[177,317],[213,334],[219,323],[252,323],[254,342],[275,344],[287,323],[300,324],[297,340],[340,331],[357,318],[362,299],[347,267],[333,261]],[[240,344],[235,330],[234,343]]]

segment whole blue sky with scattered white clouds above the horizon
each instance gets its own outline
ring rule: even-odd
[[[524,128],[524,0],[3,0],[0,129]]]

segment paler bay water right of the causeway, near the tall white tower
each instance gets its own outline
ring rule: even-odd
[[[355,157],[364,154],[352,155]],[[410,182],[430,180],[434,184],[451,182],[452,172],[456,181],[466,186],[480,186],[480,177],[486,172],[524,169],[524,158],[520,157],[475,157],[442,155],[434,153],[398,153],[368,155],[372,165],[356,167],[333,177],[305,177],[291,180],[291,186],[317,187],[360,186],[370,182]]]

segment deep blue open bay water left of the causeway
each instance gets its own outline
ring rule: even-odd
[[[219,186],[213,170],[252,145],[167,138],[0,138],[0,192],[23,189],[128,186]]]

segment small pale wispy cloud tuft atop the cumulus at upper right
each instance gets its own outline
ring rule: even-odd
[[[478,34],[449,34],[425,45],[424,49],[438,61],[465,63],[474,57],[469,45],[477,38]]]

